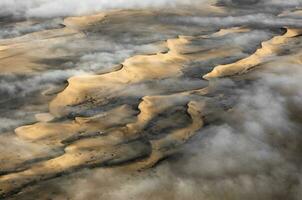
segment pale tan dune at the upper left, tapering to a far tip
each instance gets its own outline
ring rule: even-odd
[[[0,40],[0,70],[2,73],[34,74],[45,71],[47,64],[42,59],[69,56],[68,52],[53,51],[57,45],[86,37],[83,30],[101,23],[106,13],[84,17],[68,17],[65,27],[29,33],[20,37]],[[14,67],[11,67],[14,66]]]

